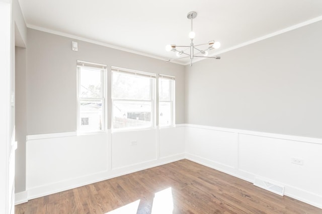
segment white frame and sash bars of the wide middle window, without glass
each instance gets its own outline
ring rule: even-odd
[[[113,98],[113,79],[114,73],[123,73],[124,75],[137,76],[149,78],[150,80],[150,99],[122,99],[122,98]],[[156,74],[137,71],[126,68],[111,67],[111,130],[112,132],[119,131],[131,131],[131,130],[144,130],[144,129],[153,129],[156,127]],[[138,126],[138,127],[124,127],[124,128],[115,128],[114,127],[114,103],[115,102],[150,102],[151,103],[151,125],[150,126]]]

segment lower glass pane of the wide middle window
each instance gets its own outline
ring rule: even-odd
[[[114,101],[113,128],[151,127],[151,102]]]

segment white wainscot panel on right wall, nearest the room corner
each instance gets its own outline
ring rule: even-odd
[[[209,162],[208,165],[216,168],[237,167],[236,133],[186,127],[186,147],[188,155],[215,163]]]

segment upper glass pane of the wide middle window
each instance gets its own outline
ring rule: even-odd
[[[150,90],[150,78],[113,72],[112,98],[150,100]]]

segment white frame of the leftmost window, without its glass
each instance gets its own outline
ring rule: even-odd
[[[81,92],[81,68],[90,68],[99,70],[101,72],[101,97],[81,97],[79,96]],[[105,132],[107,130],[107,65],[86,62],[77,60],[76,63],[76,71],[77,71],[77,135],[78,134],[90,134],[90,133],[100,133]],[[81,102],[82,101],[101,101],[102,102],[102,128],[101,130],[81,130]]]

